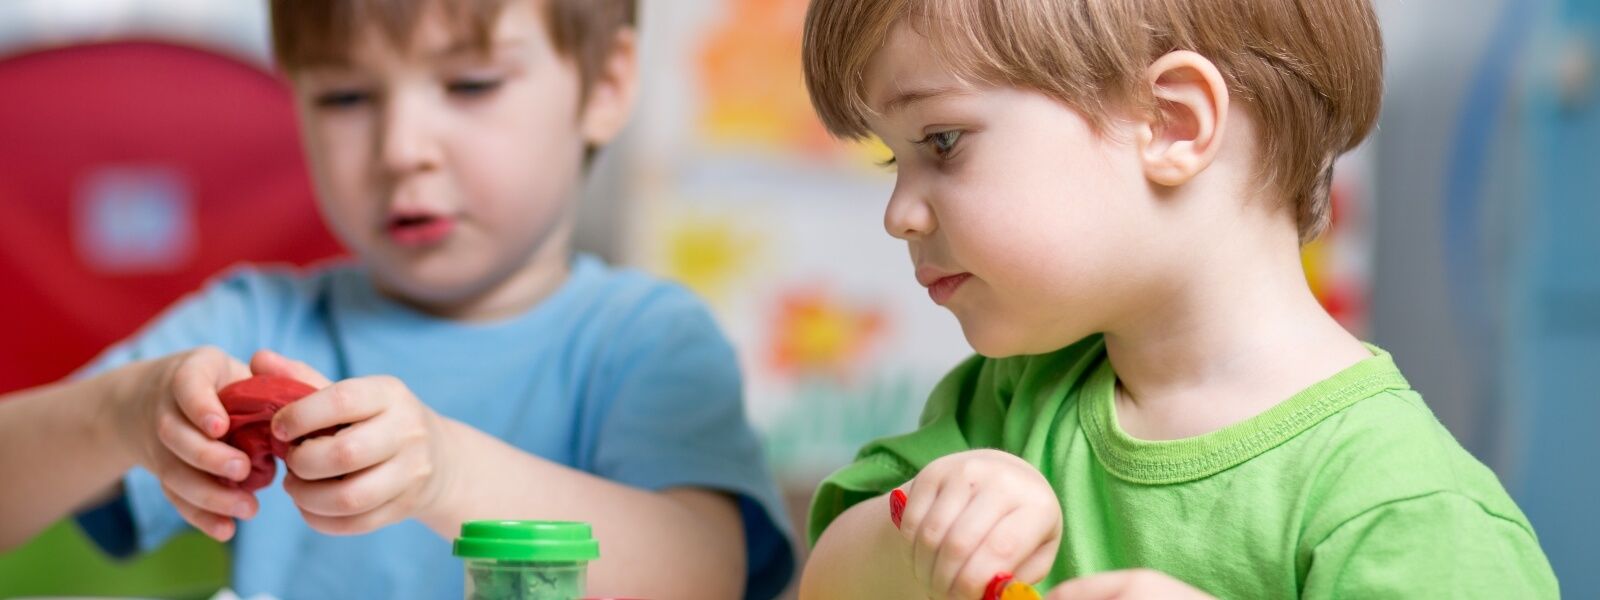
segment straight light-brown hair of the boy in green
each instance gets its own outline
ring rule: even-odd
[[[1330,219],[1333,158],[1366,138],[1382,96],[1368,0],[813,0],[805,78],[834,134],[870,134],[862,72],[901,19],[954,74],[1050,94],[1096,128],[1152,109],[1157,58],[1200,53],[1259,120],[1259,176],[1294,203],[1306,242]]]

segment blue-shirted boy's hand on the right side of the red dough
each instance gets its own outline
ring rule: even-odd
[[[395,378],[330,382],[272,352],[250,362],[256,374],[280,374],[317,387],[272,418],[272,435],[296,440],[347,426],[290,448],[283,490],[314,530],[358,534],[410,518],[438,498],[448,445],[442,418]]]

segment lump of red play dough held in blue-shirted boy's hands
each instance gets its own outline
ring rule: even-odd
[[[272,416],[288,403],[315,392],[315,387],[290,378],[274,374],[258,374],[245,381],[222,387],[216,392],[227,410],[227,434],[222,442],[250,454],[250,477],[243,482],[224,480],[240,490],[256,491],[272,483],[278,474],[274,459],[288,454],[290,445],[272,437]],[[334,429],[323,429],[307,437],[333,434]]]

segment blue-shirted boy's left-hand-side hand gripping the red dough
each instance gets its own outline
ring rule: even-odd
[[[218,541],[234,536],[234,517],[256,514],[254,496],[218,480],[250,475],[250,458],[218,440],[227,411],[216,392],[245,378],[250,370],[214,347],[174,354],[149,363],[115,410],[123,446],[155,474],[178,514]]]

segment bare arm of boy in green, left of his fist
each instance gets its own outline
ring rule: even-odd
[[[856,504],[816,541],[800,574],[800,600],[920,597],[909,549],[890,522],[888,494]]]

